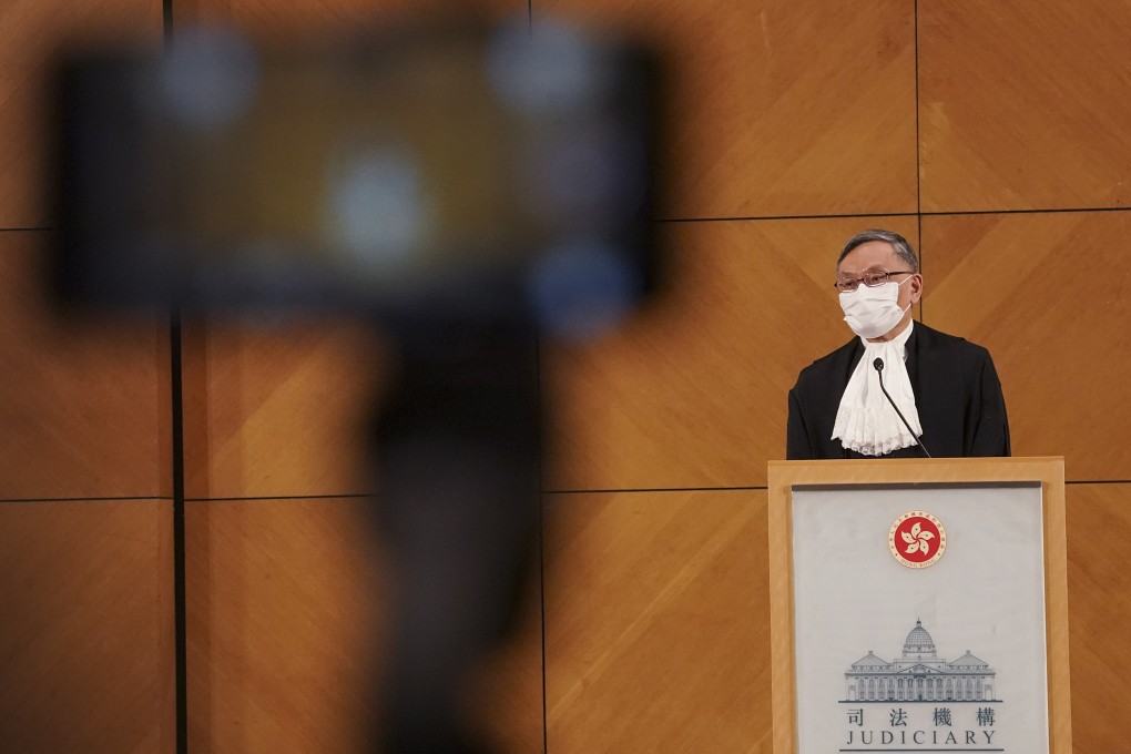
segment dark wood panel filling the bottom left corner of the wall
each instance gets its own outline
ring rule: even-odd
[[[174,748],[172,506],[0,503],[0,748]]]

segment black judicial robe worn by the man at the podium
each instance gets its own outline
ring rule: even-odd
[[[830,439],[840,397],[863,355],[864,344],[853,338],[801,371],[789,391],[787,459],[866,458]],[[907,339],[907,376],[923,444],[933,457],[1010,454],[1005,400],[990,352],[915,322]],[[883,458],[923,457],[912,447]]]

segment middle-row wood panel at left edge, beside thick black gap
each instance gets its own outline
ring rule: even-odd
[[[0,500],[169,495],[167,320],[63,315],[50,241],[0,233]]]

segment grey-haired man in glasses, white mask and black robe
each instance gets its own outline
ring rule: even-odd
[[[837,260],[837,275],[845,320],[860,337],[802,370],[789,391],[786,458],[923,458],[924,448],[935,458],[1009,456],[1005,402],[990,353],[962,338],[912,322],[912,305],[922,295],[923,284],[918,259],[907,241],[889,231],[865,231],[845,245]],[[866,298],[866,294],[882,287],[887,287],[890,296],[883,297],[890,297],[890,302],[872,311],[867,311],[870,305],[853,310],[854,296]],[[889,328],[891,322],[895,324]],[[912,331],[906,333],[908,328]],[[846,391],[852,392],[849,382],[865,350],[897,338],[903,339],[901,366],[906,367],[906,383],[914,393],[900,408],[905,415],[908,408],[917,415],[913,425],[920,425],[922,432],[904,435],[904,447],[862,453],[844,439],[852,433],[838,422],[853,402]],[[865,363],[862,371],[869,366]],[[900,365],[888,358],[886,381],[895,376],[892,367]],[[867,374],[857,380],[875,380],[878,387],[879,376]],[[879,417],[881,422],[900,422],[895,408],[888,405],[887,409],[890,416]],[[834,437],[838,432],[841,436]]]

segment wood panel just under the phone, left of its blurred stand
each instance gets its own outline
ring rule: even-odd
[[[371,491],[364,430],[382,362],[354,322],[185,323],[187,497]]]

